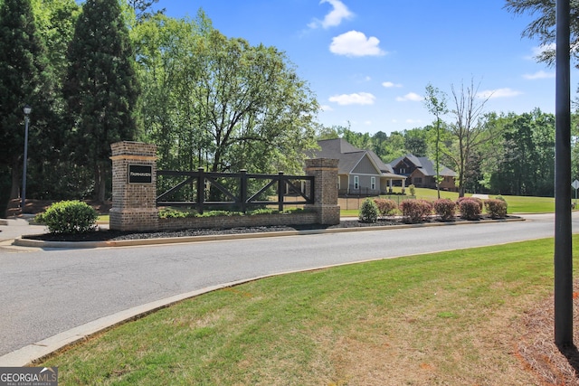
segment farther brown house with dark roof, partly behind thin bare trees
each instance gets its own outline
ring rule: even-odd
[[[413,184],[417,188],[436,189],[436,166],[431,159],[425,156],[404,155],[390,163],[394,173],[407,177],[406,184]],[[441,190],[456,192],[454,179],[457,174],[444,165],[440,166],[442,181]]]

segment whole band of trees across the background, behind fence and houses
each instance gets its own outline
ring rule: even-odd
[[[109,199],[109,145],[120,140],[157,144],[164,169],[299,173],[328,136],[386,162],[436,158],[459,174],[461,193],[553,194],[552,115],[482,115],[473,84],[452,89],[449,109],[429,85],[432,126],[372,136],[320,127],[318,101],[284,52],[223,36],[203,10],[167,17],[157,1],[0,0],[0,211],[22,187],[25,105],[31,199]]]

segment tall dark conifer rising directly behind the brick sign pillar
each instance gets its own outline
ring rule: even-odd
[[[94,199],[105,199],[110,144],[137,135],[138,80],[119,0],[87,0],[75,25],[64,80],[73,156],[92,168]]]

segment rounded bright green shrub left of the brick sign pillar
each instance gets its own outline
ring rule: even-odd
[[[48,227],[51,233],[85,233],[97,226],[97,211],[86,202],[54,202],[36,221]]]

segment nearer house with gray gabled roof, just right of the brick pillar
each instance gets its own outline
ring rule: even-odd
[[[378,195],[392,190],[394,182],[404,186],[406,177],[394,174],[391,165],[384,164],[371,150],[362,150],[346,140],[318,141],[319,150],[312,158],[334,158],[337,163],[337,189],[339,195]]]

